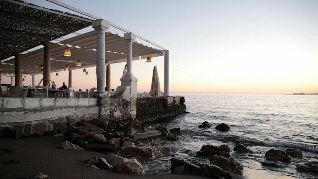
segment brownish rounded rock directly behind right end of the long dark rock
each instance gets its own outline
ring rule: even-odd
[[[243,166],[235,158],[225,158],[222,156],[214,155],[210,157],[210,163],[224,169],[232,171],[239,175],[243,175]]]

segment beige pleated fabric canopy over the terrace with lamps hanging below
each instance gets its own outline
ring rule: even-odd
[[[106,32],[106,60],[109,64],[125,62],[127,43],[118,34]],[[90,31],[73,38],[60,41],[51,45],[51,72],[63,71],[66,64],[69,70],[96,66],[97,32]],[[65,57],[66,47],[71,50],[72,56]],[[162,50],[133,42],[132,60],[146,59],[148,56],[158,57],[163,55]],[[40,74],[39,66],[43,63],[43,48],[21,55],[21,71],[23,74]],[[80,59],[82,66],[76,66]],[[14,59],[2,63],[4,73],[14,73]]]

